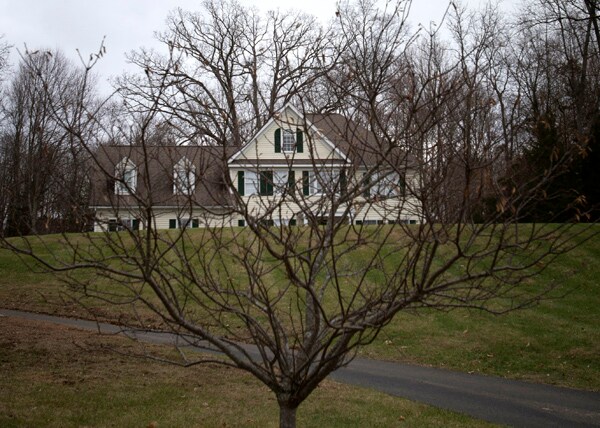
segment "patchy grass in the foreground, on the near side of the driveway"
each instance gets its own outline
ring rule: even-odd
[[[0,318],[0,426],[277,426],[274,395],[252,376],[215,364],[181,368],[117,353],[134,346],[121,337]],[[331,381],[300,406],[298,425],[491,426]]]

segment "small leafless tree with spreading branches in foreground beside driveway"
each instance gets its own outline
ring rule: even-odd
[[[161,35],[167,56],[135,57],[145,77],[123,89],[129,127],[89,139],[93,115],[65,124],[92,155],[102,232],[3,245],[141,314],[138,327],[151,313],[217,348],[273,391],[282,427],[400,311],[537,302],[552,284],[525,279],[591,236],[520,223],[573,152],[510,180],[535,133],[508,102],[522,90],[512,70],[499,74],[498,15],[452,12],[455,41],[442,42],[409,36],[409,6],[345,4],[331,32],[234,2],[179,12]],[[271,139],[241,146],[266,125]],[[157,129],[197,145],[161,144]],[[558,212],[585,216],[571,202]]]

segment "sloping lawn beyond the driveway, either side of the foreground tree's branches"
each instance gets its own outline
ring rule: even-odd
[[[596,226],[598,227],[598,226]],[[600,239],[561,256],[530,280],[555,283],[550,300],[507,315],[455,310],[400,313],[361,355],[466,372],[600,390]],[[56,278],[35,273],[0,250],[0,305],[89,317]],[[560,298],[559,298],[560,297]],[[118,307],[89,302],[94,315]]]

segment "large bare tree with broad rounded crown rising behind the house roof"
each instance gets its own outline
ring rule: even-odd
[[[173,12],[167,27],[158,36],[167,54],[131,54],[145,75],[122,79],[121,92],[192,142],[241,146],[331,61],[321,25],[299,13],[265,19],[235,0],[206,0],[201,12]]]

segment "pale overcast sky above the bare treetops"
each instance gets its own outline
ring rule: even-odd
[[[334,16],[336,0],[239,0],[262,12],[290,8],[318,16],[324,23]],[[477,5],[484,0],[468,0]],[[505,0],[511,3],[514,0]],[[448,0],[414,0],[411,17],[429,26],[439,22]],[[15,48],[59,48],[77,59],[76,49],[89,57],[106,37],[106,56],[96,67],[100,80],[119,75],[128,66],[125,53],[141,46],[157,47],[154,32],[164,29],[169,11],[197,10],[199,0],[0,0],[0,34]],[[18,62],[14,52],[11,63]],[[103,92],[108,85],[101,83]]]

